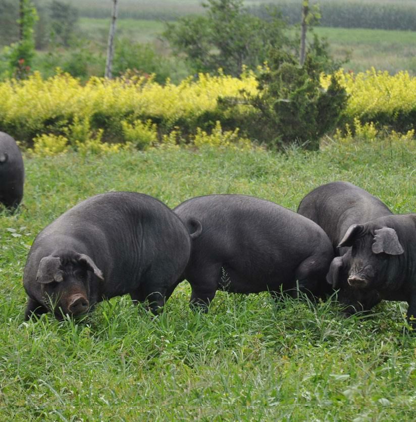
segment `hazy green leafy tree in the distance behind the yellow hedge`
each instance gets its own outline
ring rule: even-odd
[[[239,76],[243,66],[255,68],[267,59],[270,48],[288,45],[286,24],[275,11],[266,21],[250,15],[242,0],[207,0],[204,16],[168,23],[163,36],[176,55],[185,55],[195,72]]]

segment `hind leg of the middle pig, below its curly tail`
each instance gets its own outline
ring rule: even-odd
[[[200,268],[198,275],[193,271],[186,274],[186,279],[192,287],[190,306],[193,310],[208,311],[210,302],[214,299],[221,280],[221,263]]]

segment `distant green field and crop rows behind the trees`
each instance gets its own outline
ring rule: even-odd
[[[140,43],[151,43],[158,54],[167,58],[170,54],[169,46],[158,39],[158,35],[165,28],[164,22],[187,14],[202,13],[201,3],[200,0],[146,0],[143,2],[124,0],[119,3],[116,40],[129,39]],[[388,70],[390,73],[408,70],[412,75],[416,74],[414,59],[416,57],[416,0],[365,0],[362,2],[323,0],[319,3],[322,9],[322,27],[316,28],[316,32],[328,38],[330,51],[337,58],[344,58],[345,53],[349,52],[351,60],[345,65],[346,70],[359,72],[375,66],[379,70]],[[35,0],[35,4],[39,12],[42,11],[45,14],[50,0]],[[300,21],[300,2],[297,0],[249,0],[245,4],[253,8],[253,13],[257,14],[261,14],[259,9],[261,5],[280,5],[283,7],[284,16],[289,16],[290,22],[299,23]],[[85,62],[90,57],[84,79],[89,74],[102,75],[110,26],[111,1],[74,0],[71,6],[78,9],[80,17],[76,26],[75,42],[72,42],[71,47],[67,49],[54,45],[47,48],[45,39],[49,28],[43,27],[43,32],[39,31],[41,35],[36,38],[38,45],[42,45],[42,49],[38,50],[34,68],[41,70],[44,76],[49,76],[53,74],[55,64],[55,66],[68,68],[74,74],[77,73],[74,68],[79,68],[77,63]],[[17,7],[14,10],[14,17],[10,16],[9,20],[2,24],[7,25],[9,30],[5,32],[5,36],[0,37],[0,45],[17,40],[16,19],[18,19]],[[39,21],[38,25],[46,25],[44,19],[42,22]],[[351,27],[356,25],[361,25],[363,28],[370,26],[412,30]],[[331,26],[337,26],[337,28],[330,28]],[[85,51],[80,52],[82,48],[85,48]],[[57,55],[60,57],[57,58]],[[170,62],[164,66],[164,70],[172,69],[171,76],[175,82],[178,82],[190,71],[182,60],[175,61],[177,66],[175,62]],[[66,62],[71,62],[71,65],[65,66]],[[5,64],[0,63],[0,72],[6,67]],[[136,68],[140,68],[140,63],[137,63]],[[144,71],[149,73],[146,69]],[[78,72],[82,73],[82,69],[78,69]]]

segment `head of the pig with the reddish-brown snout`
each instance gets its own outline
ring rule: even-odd
[[[33,299],[53,311],[57,318],[65,314],[78,316],[94,304],[92,291],[96,290],[94,284],[99,280],[103,280],[103,275],[88,255],[75,251],[58,252],[40,259],[30,293],[38,296]],[[26,319],[32,311],[29,299]]]

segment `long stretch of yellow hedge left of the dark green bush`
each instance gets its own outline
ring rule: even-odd
[[[189,132],[199,116],[215,110],[219,96],[238,96],[243,88],[255,92],[256,84],[250,72],[241,79],[199,74],[196,80],[188,78],[179,85],[169,81],[159,85],[151,78],[98,77],[82,85],[66,73],[46,80],[35,73],[26,80],[0,83],[0,126],[26,141],[33,133],[62,133],[70,127],[70,141],[75,142],[78,133],[89,132],[88,125],[93,130],[114,125],[112,132],[125,140],[121,122],[138,119],[161,123],[164,133],[184,125]]]

